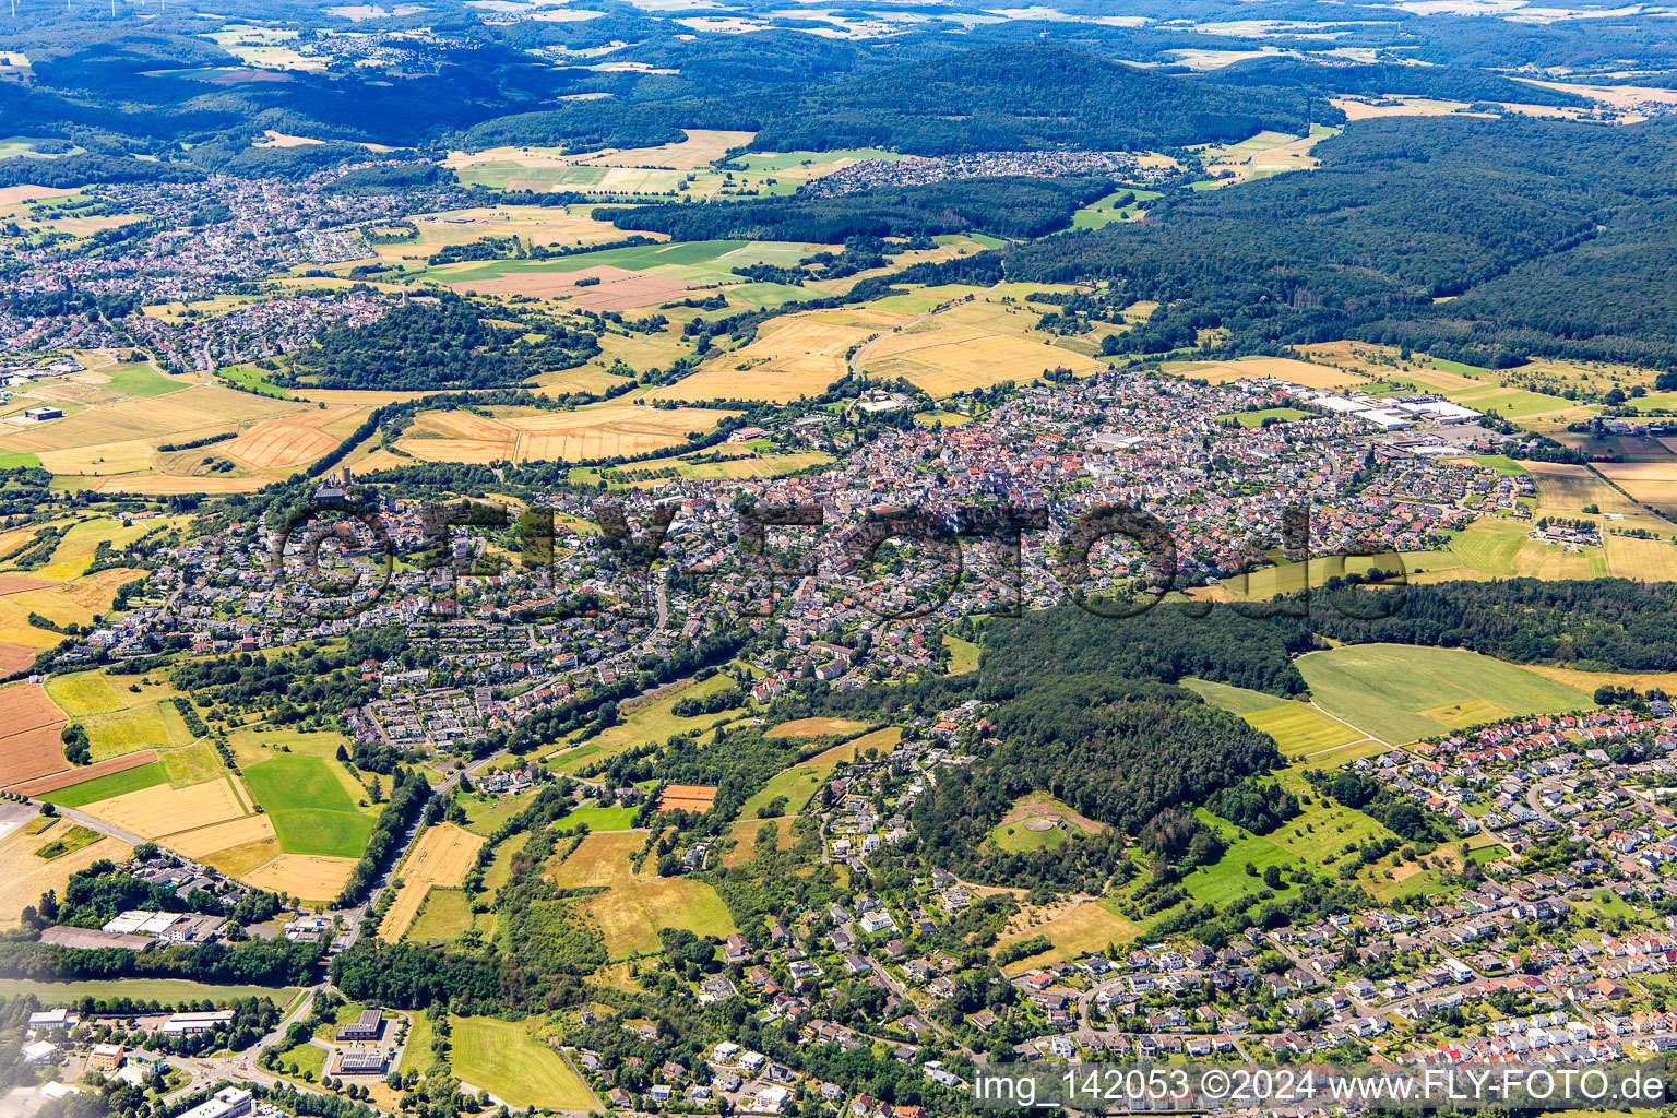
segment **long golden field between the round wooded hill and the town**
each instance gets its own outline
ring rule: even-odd
[[[441,437],[404,437],[397,448],[414,458],[439,463],[491,461],[590,461],[627,458],[688,443],[738,412],[704,407],[634,407],[607,404],[570,412],[522,412],[486,417],[471,412],[424,412],[414,421],[421,432]]]

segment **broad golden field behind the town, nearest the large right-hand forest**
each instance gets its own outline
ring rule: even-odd
[[[998,292],[963,300],[887,334],[862,354],[862,372],[902,377],[932,397],[944,397],[1001,380],[1025,384],[1050,369],[1093,375],[1107,367],[1055,345],[1055,335],[1035,329],[1038,313],[1013,298]]]

